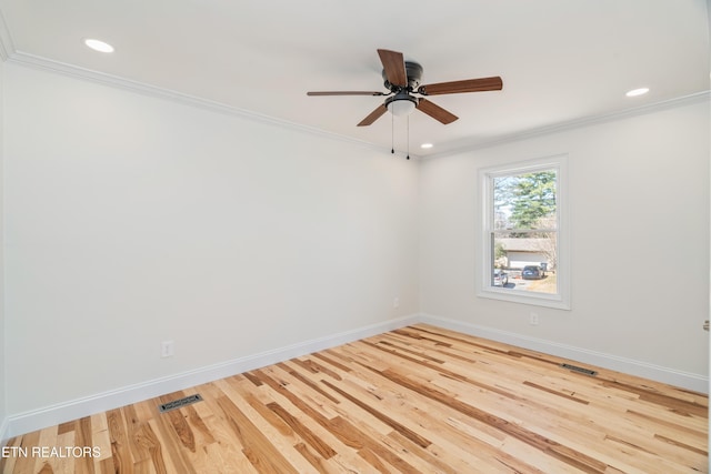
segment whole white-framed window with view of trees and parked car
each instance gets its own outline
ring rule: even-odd
[[[570,309],[567,157],[480,171],[479,295]]]

